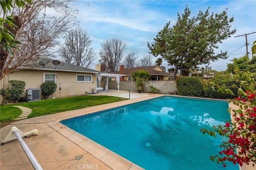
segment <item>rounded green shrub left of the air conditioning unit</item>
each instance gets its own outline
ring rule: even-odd
[[[22,93],[24,93],[26,83],[21,80],[9,80],[8,82],[10,83],[10,87],[7,89],[1,89],[1,95],[4,96],[6,100],[17,103],[18,99],[22,97]]]

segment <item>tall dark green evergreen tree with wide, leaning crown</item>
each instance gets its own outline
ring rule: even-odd
[[[160,55],[169,65],[174,65],[174,79],[178,70],[180,75],[188,75],[188,71],[197,69],[198,65],[227,58],[227,51],[215,54],[214,49],[236,32],[230,30],[233,20],[233,17],[228,19],[227,9],[210,15],[209,8],[190,18],[190,10],[186,7],[184,14],[178,14],[176,24],[170,28],[169,21],[154,42],[148,43],[148,48],[155,57]]]

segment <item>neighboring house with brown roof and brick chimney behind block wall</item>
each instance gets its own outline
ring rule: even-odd
[[[152,66],[144,66],[144,67],[132,67],[132,68],[124,68],[124,65],[120,65],[120,69],[118,72],[119,74],[124,74],[125,76],[121,77],[121,80],[126,81],[132,81],[132,73],[134,71],[138,70],[144,70],[148,71],[148,73],[151,75],[149,80],[165,80],[170,81],[172,80],[173,73],[166,73],[160,66],[152,65]],[[111,77],[109,77],[111,78]],[[114,77],[112,77],[112,80],[115,80]]]

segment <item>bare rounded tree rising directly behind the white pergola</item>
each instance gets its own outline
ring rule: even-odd
[[[112,38],[111,40],[106,40],[101,44],[100,57],[106,69],[104,72],[114,72],[118,70],[120,61],[124,55],[126,49],[126,44],[121,40]]]

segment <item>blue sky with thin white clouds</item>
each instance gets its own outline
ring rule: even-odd
[[[148,55],[147,43],[152,43],[157,33],[170,21],[170,26],[176,24],[177,13],[183,14],[186,5],[191,11],[191,17],[197,16],[199,11],[205,12],[210,7],[210,14],[221,13],[226,8],[228,17],[234,17],[231,30],[236,33],[231,38],[219,43],[220,50],[228,52],[228,59],[212,62],[209,67],[216,71],[225,71],[227,63],[233,58],[240,58],[246,54],[246,38],[240,36],[256,32],[256,1],[255,0],[77,0],[74,8],[78,9],[80,28],[86,30],[92,40],[92,47],[96,52],[98,64],[101,44],[112,38],[126,43],[124,53],[135,53],[137,59]],[[239,37],[236,37],[239,36]],[[256,40],[256,33],[247,35],[248,52]],[[249,55],[251,56],[251,55]],[[158,57],[153,57],[153,64]],[[163,60],[162,65],[168,68]],[[201,65],[204,67],[205,65]]]

